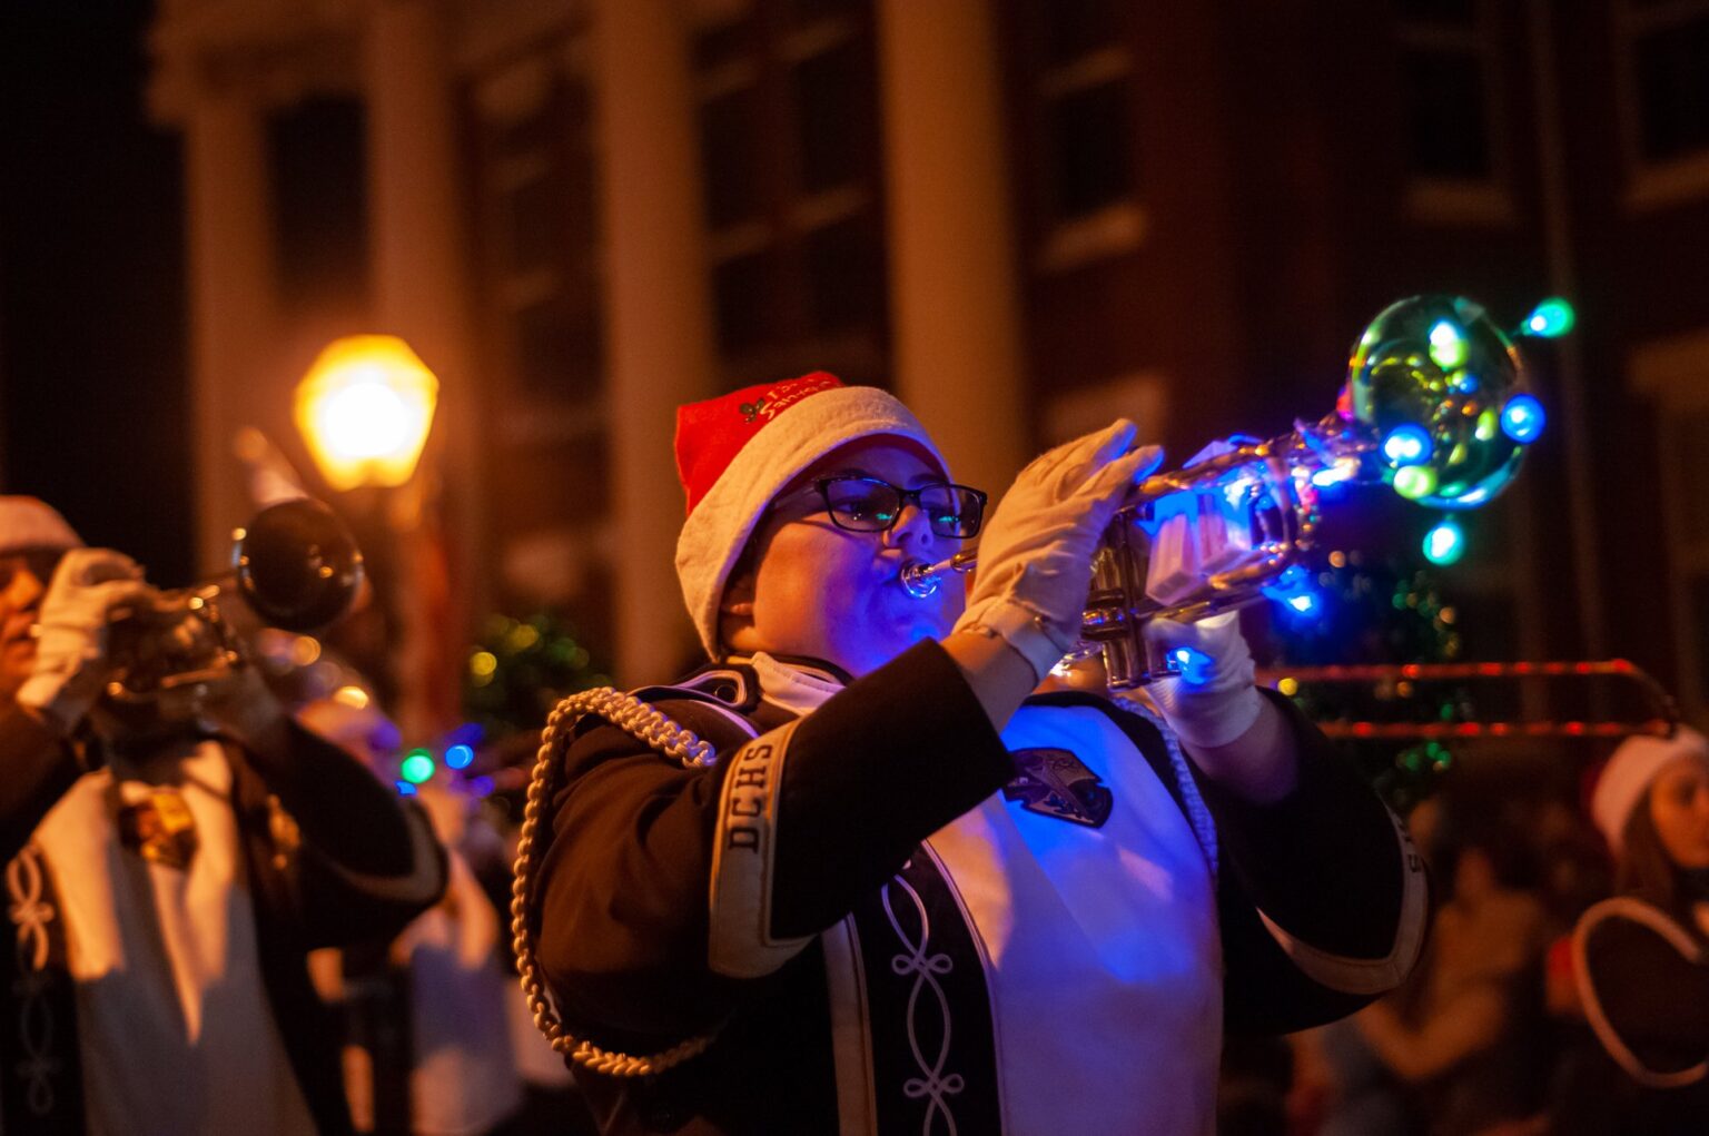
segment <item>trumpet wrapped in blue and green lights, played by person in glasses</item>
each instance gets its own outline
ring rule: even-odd
[[[1475,509],[1512,480],[1543,420],[1518,348],[1483,306],[1391,304],[1354,345],[1333,412],[1270,441],[1220,442],[1133,489],[1092,560],[1084,653],[1102,651],[1113,690],[1178,673],[1148,647],[1145,624],[1256,601],[1311,547],[1319,489],[1381,480],[1422,506]],[[976,562],[971,548],[907,564],[901,583],[925,598]]]

